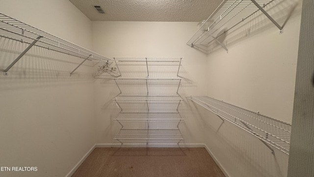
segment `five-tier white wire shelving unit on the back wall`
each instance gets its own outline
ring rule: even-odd
[[[179,70],[182,62],[182,58],[114,58],[116,66],[120,72],[119,66],[128,65],[137,67],[143,66],[146,68],[144,71],[145,78],[112,78],[115,82],[120,93],[113,99],[116,105],[120,108],[119,114],[114,118],[115,122],[121,125],[120,131],[115,135],[114,141],[124,144],[172,144],[183,141],[181,132],[179,130],[179,124],[183,121],[178,108],[183,98],[178,93],[183,79],[179,77]],[[172,65],[177,67],[176,75],[174,78],[149,78],[150,67],[154,66]],[[150,67],[149,67],[150,66]],[[156,73],[155,73],[156,74]],[[121,74],[120,72],[120,75]],[[144,86],[146,88],[142,95],[132,95],[128,92],[128,86]],[[155,95],[154,91],[151,91],[150,87],[163,85],[165,87],[171,85],[175,86],[172,90],[173,93],[166,95]],[[133,93],[134,94],[134,93]],[[121,104],[125,104],[126,107],[132,104],[141,104],[144,107],[142,112],[125,111]],[[144,103],[144,104],[143,104]],[[165,110],[154,109],[154,104],[171,104],[175,105],[174,109],[169,112]],[[152,111],[155,110],[155,111]],[[132,128],[130,123],[144,123],[145,128]],[[156,128],[154,126],[158,123],[175,124],[175,128]],[[160,125],[159,125],[160,126]],[[131,127],[131,128],[130,128]],[[153,128],[152,128],[153,127]]]

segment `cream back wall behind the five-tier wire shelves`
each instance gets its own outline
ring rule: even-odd
[[[183,96],[204,95],[207,55],[185,45],[196,26],[197,23],[185,22],[93,22],[93,46],[95,52],[108,57],[183,57],[179,75],[187,80],[180,92]],[[123,77],[131,77],[139,68],[142,67],[131,67]],[[113,143],[112,139],[121,127],[112,120],[119,109],[111,99],[118,93],[114,82],[95,81],[97,143]],[[186,101],[180,106],[185,118],[180,125],[183,143],[200,143],[202,132],[187,106]]]

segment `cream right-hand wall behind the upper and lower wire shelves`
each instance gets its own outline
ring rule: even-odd
[[[281,3],[270,11],[283,24],[291,8]],[[207,95],[291,123],[300,9],[299,3],[283,34],[261,15],[229,31],[224,41],[229,52],[218,47],[208,56]],[[194,109],[198,121],[204,122],[206,145],[230,177],[287,176],[288,155],[276,149],[272,155],[257,138],[229,122],[221,123],[201,107]]]

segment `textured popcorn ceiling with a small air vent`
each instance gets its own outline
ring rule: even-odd
[[[222,0],[70,0],[92,21],[200,22]],[[94,5],[100,5],[105,14]]]

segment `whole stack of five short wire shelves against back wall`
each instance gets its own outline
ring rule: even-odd
[[[121,109],[117,117],[114,118],[115,122],[121,125],[121,129],[114,137],[114,140],[120,142],[121,145],[125,143],[148,144],[149,142],[154,144],[165,143],[167,145],[176,142],[179,145],[183,140],[179,130],[179,124],[183,121],[183,118],[178,111],[183,100],[178,93],[183,82],[183,79],[179,76],[183,58],[135,57],[113,59],[121,76],[119,66],[122,66],[121,71],[130,74],[133,73],[129,70],[130,65],[134,65],[136,71],[140,73],[135,72],[138,75],[133,77],[112,78],[120,91],[113,100]],[[140,69],[137,66],[141,66]],[[168,78],[170,74],[173,74],[176,78]],[[120,85],[122,85],[121,88]],[[123,110],[120,104],[122,107],[126,106],[127,111]],[[134,111],[134,108],[139,109],[138,112]],[[134,122],[137,128],[144,129],[131,128]],[[176,128],[173,129],[175,124]]]

